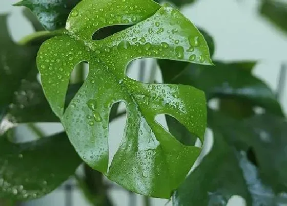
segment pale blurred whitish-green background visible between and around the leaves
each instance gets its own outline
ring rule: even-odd
[[[32,26],[22,17],[21,9],[11,5],[17,1],[0,2],[0,13],[9,13],[9,29],[15,41],[33,32]],[[199,0],[197,4],[188,6],[182,12],[198,27],[209,32],[216,44],[215,59],[218,60],[258,60],[255,74],[265,80],[272,89],[277,87],[280,65],[287,63],[287,35],[277,30],[270,22],[262,18],[257,8],[259,0]],[[1,28],[0,28],[1,29]],[[137,76],[133,70],[131,76]],[[160,79],[160,74],[158,75]],[[287,78],[287,77],[286,77]],[[281,102],[287,113],[287,84]],[[116,151],[125,125],[125,118],[112,123],[110,137],[114,143],[110,145]],[[60,129],[59,125],[49,125],[46,130]],[[119,132],[120,131],[120,132]],[[48,132],[48,131],[47,131]],[[51,132],[51,131],[49,131]],[[56,190],[45,198],[35,200],[26,205],[64,205],[64,190]],[[111,192],[115,206],[128,205],[128,193],[121,190]],[[142,205],[140,195],[136,196],[137,205]],[[80,192],[73,192],[73,205],[88,205]],[[168,200],[152,199],[153,205],[163,206]],[[240,198],[235,197],[229,205],[242,205]],[[171,205],[168,203],[167,205]]]

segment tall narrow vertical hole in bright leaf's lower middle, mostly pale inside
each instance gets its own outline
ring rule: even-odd
[[[115,118],[117,117],[118,118]],[[124,130],[126,127],[127,112],[124,102],[115,103],[110,109],[110,124],[109,124],[109,165],[110,167],[115,153],[117,152]]]

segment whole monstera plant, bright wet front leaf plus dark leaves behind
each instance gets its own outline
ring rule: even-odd
[[[80,165],[85,177],[76,178],[93,205],[112,205],[101,173],[173,205],[226,205],[233,195],[247,205],[286,201],[287,122],[277,96],[252,74],[255,61],[212,61],[212,37],[177,9],[192,2],[23,0],[15,6],[30,9],[36,32],[17,43],[0,16],[0,203],[42,197]],[[276,5],[265,4],[276,3],[261,11],[281,26],[270,15]],[[140,58],[157,62],[162,83],[127,76]],[[127,121],[109,164],[120,102]],[[41,122],[65,131],[45,136]],[[19,135],[23,123],[39,139]],[[192,168],[207,127],[212,149]]]

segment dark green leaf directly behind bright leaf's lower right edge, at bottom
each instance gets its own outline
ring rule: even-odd
[[[174,193],[173,205],[225,206],[233,195],[251,201],[234,149],[214,131],[211,152]]]

